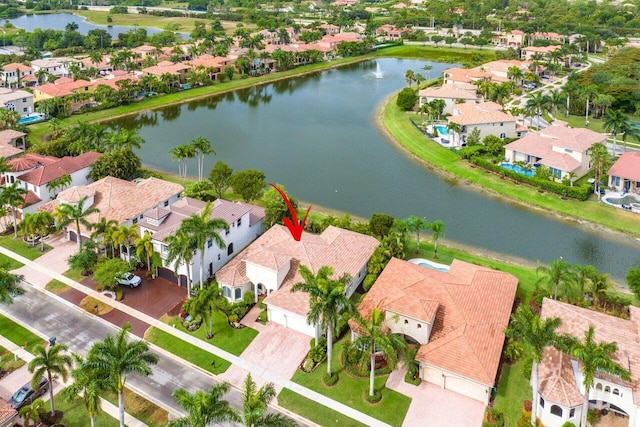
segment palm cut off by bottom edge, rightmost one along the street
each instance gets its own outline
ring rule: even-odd
[[[267,383],[260,387],[253,382],[251,374],[247,374],[242,390],[242,421],[246,427],[273,426],[295,427],[295,421],[282,414],[267,414],[267,405],[276,397],[276,389],[273,383]]]

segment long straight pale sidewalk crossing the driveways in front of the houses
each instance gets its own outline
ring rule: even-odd
[[[291,391],[294,391],[298,394],[300,394],[301,396],[304,396],[312,401],[315,401],[323,406],[326,406],[327,408],[333,409],[341,414],[344,414],[350,418],[353,418],[354,420],[357,420],[363,424],[366,424],[368,426],[387,426],[387,424],[383,423],[380,420],[377,420],[363,412],[357,411],[347,405],[344,405],[338,401],[335,401],[329,397],[326,397],[320,393],[317,393],[313,390],[310,390],[306,387],[303,387],[297,383],[294,383],[293,381],[290,381],[289,379],[283,378],[280,375],[274,373],[271,370],[268,369],[264,369],[254,363],[251,363],[249,361],[243,360],[238,356],[234,356],[231,353],[228,353],[218,347],[215,347],[209,343],[206,343],[196,337],[193,337],[189,334],[186,334],[182,331],[179,331],[175,328],[172,328],[170,325],[167,325],[164,322],[161,322],[151,316],[148,316],[144,313],[141,313],[135,309],[132,309],[131,307],[119,302],[119,301],[114,301],[111,298],[107,298],[104,295],[100,294],[99,292],[96,292],[92,289],[87,288],[86,286],[71,280],[61,274],[58,274],[52,270],[50,270],[47,267],[44,267],[42,265],[37,264],[34,261],[30,261],[26,258],[24,258],[23,256],[20,256],[6,248],[0,247],[0,253],[3,255],[6,255],[8,257],[14,258],[17,261],[22,262],[23,264],[25,264],[25,266],[31,267],[34,270],[37,270],[39,273],[41,274],[46,274],[47,276],[49,276],[52,279],[56,279],[80,292],[85,293],[86,295],[89,295],[101,302],[103,302],[104,304],[107,305],[111,305],[112,307],[127,313],[133,317],[136,317],[137,319],[155,327],[158,328],[160,330],[162,330],[163,332],[166,332],[168,334],[171,334],[183,341],[186,341],[190,344],[193,344],[199,348],[201,348],[202,350],[205,350],[211,354],[214,354],[218,357],[221,357],[229,362],[231,362],[233,365],[236,365],[244,370],[246,370],[247,372],[251,373],[254,376],[260,376],[262,378],[264,378],[266,381],[269,382],[273,382],[276,386],[280,386],[282,388],[288,388]],[[28,277],[27,277],[28,280]],[[173,357],[176,360],[181,360],[179,359],[177,356],[171,355],[171,357]],[[216,378],[216,380],[218,380],[218,378]],[[232,384],[233,386],[242,389],[243,384]],[[280,409],[280,408],[279,408]],[[286,410],[284,410],[286,412]],[[308,423],[312,424],[310,421],[307,421]]]

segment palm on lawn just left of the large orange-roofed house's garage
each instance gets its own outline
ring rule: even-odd
[[[371,310],[369,318],[363,317],[357,311],[354,313],[356,333],[358,337],[350,347],[360,355],[358,365],[362,370],[369,366],[369,396],[374,395],[373,382],[376,370],[376,355],[387,361],[391,369],[398,363],[398,352],[406,349],[407,344],[397,334],[390,334],[384,314],[379,308]]]

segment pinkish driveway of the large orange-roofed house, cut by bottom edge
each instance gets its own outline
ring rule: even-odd
[[[485,406],[474,399],[422,382],[418,386],[404,381],[406,368],[396,369],[387,387],[412,398],[403,427],[480,427]]]

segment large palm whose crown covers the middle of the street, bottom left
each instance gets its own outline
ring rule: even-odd
[[[135,373],[149,376],[151,365],[158,363],[158,357],[149,352],[149,346],[142,340],[128,341],[131,325],[126,323],[116,336],[107,335],[104,341],[93,344],[87,356],[86,366],[108,379],[108,384],[118,393],[120,427],[124,426],[124,384],[126,375]]]

